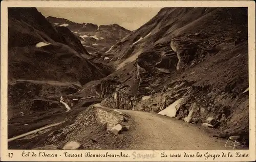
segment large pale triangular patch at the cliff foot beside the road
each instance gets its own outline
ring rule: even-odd
[[[176,117],[177,111],[179,111],[181,102],[184,100],[184,98],[180,98],[174,103],[170,104],[168,107],[166,107],[164,110],[160,111],[158,114],[160,115],[166,115],[168,117]]]

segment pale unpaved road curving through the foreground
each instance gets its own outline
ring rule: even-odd
[[[135,123],[132,144],[138,150],[215,150],[227,149],[225,140],[210,137],[196,126],[166,116],[118,110],[131,115]]]

